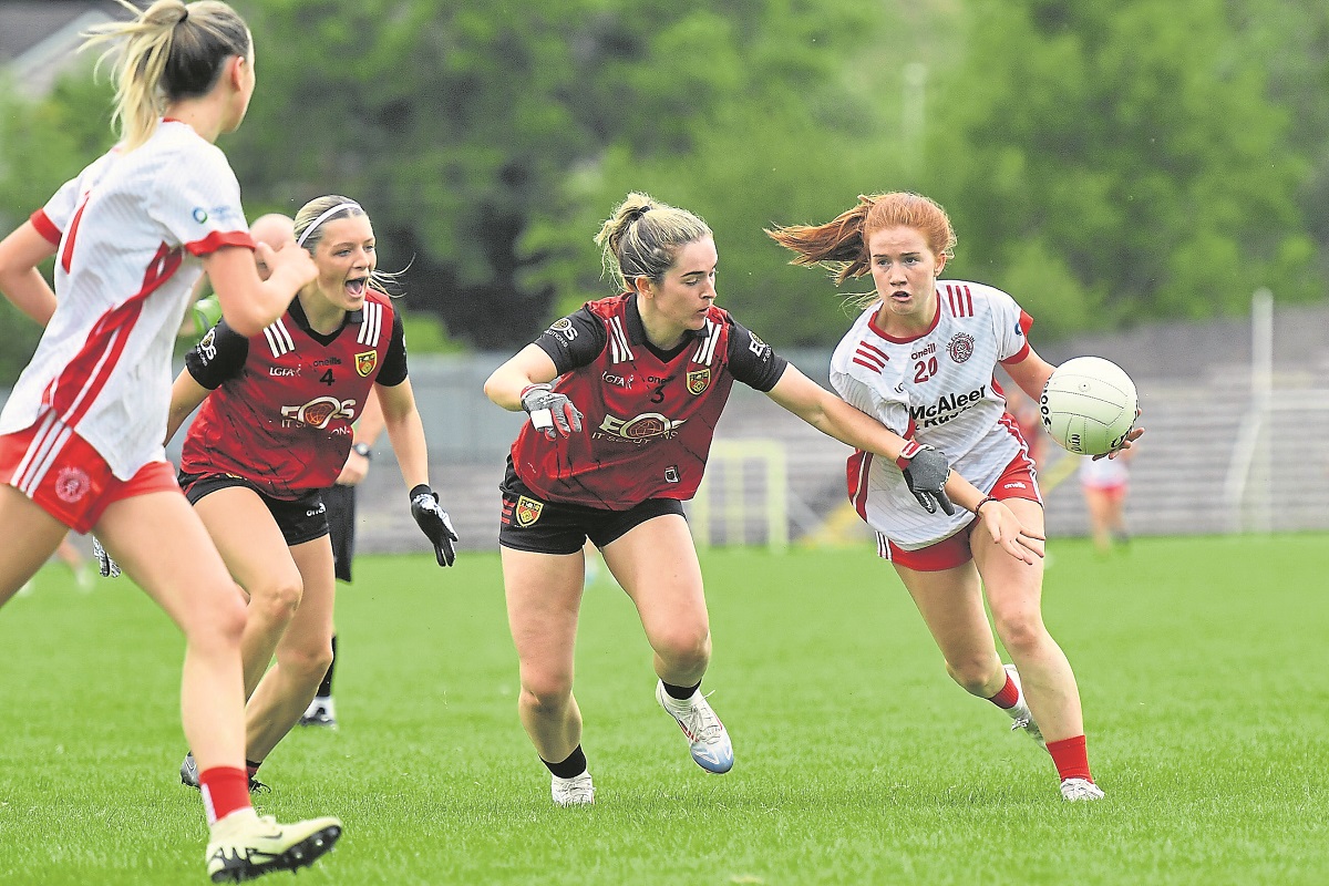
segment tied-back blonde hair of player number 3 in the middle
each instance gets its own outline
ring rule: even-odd
[[[712,236],[711,228],[692,213],[633,191],[601,226],[595,244],[601,268],[626,292],[638,276],[663,280],[679,248],[704,236]]]

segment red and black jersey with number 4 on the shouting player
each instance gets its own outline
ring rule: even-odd
[[[213,393],[185,437],[181,472],[233,474],[295,498],[336,481],[371,387],[405,380],[407,348],[401,316],[371,290],[331,335],[310,328],[299,299],[251,339],[223,320],[185,367]]]

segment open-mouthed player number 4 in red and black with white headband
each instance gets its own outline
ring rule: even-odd
[[[222,321],[185,359],[169,433],[202,402],[179,482],[249,592],[242,639],[250,777],[290,732],[332,659],[332,547],[322,490],[347,462],[371,389],[440,566],[456,533],[429,489],[424,428],[407,379],[401,319],[375,288],[373,228],[343,197],[295,218],[319,268],[284,316],[246,337]],[[276,664],[268,669],[275,654]],[[181,778],[197,784],[193,758]]]

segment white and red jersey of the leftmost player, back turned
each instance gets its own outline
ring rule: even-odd
[[[129,480],[165,460],[171,353],[199,256],[254,247],[239,183],[219,149],[163,121],[141,147],[89,165],[32,222],[58,246],[56,312],[0,433],[53,412]]]

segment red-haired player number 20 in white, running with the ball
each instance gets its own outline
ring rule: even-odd
[[[908,472],[856,453],[851,499],[877,531],[878,551],[913,596],[950,676],[1046,743],[1066,800],[1100,798],[1075,675],[1043,626],[1043,562],[1006,557],[993,543],[993,526],[1007,523],[1029,527],[1030,539],[1043,538],[1034,464],[994,375],[999,363],[1029,396],[1041,396],[1054,367],[1026,340],[1033,320],[1001,290],[940,280],[956,235],[926,197],[860,197],[827,224],[768,234],[796,254],[795,264],[827,267],[837,283],[872,274],[876,291],[836,348],[832,385],[917,446],[945,452],[986,497],[971,507],[978,518],[924,513],[912,506]],[[1140,433],[1131,432],[1123,445]],[[987,531],[974,531],[979,525]],[[1030,546],[1042,554],[1041,541]],[[1003,665],[997,655],[985,592],[1014,664]]]

